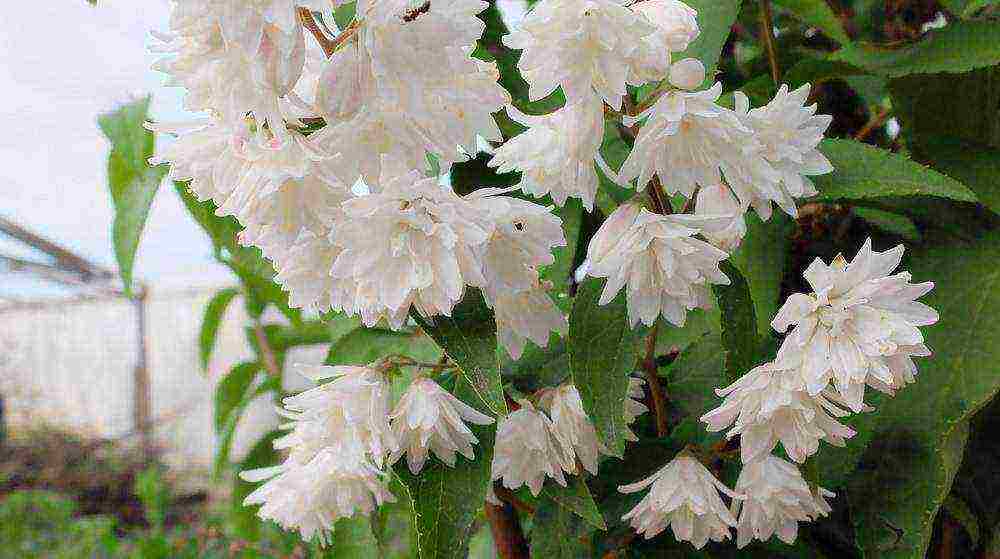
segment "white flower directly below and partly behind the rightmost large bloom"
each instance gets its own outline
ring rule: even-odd
[[[801,463],[816,453],[820,440],[844,446],[854,436],[853,429],[834,419],[848,414],[843,400],[827,391],[811,396],[796,369],[766,363],[715,392],[725,400],[701,420],[713,433],[733,425],[726,436],[740,435],[744,464],[771,452],[778,442]]]

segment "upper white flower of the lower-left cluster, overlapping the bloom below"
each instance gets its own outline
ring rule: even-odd
[[[365,367],[299,365],[307,378],[333,379],[282,402],[291,432],[275,441],[290,459],[304,463],[331,441],[357,438],[372,462],[382,467],[397,442],[389,428],[389,384],[376,364]]]

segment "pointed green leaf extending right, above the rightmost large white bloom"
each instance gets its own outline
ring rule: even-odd
[[[820,151],[832,173],[812,177],[815,200],[862,200],[889,196],[935,196],[975,202],[976,195],[962,183],[919,163],[853,140],[823,140]]]

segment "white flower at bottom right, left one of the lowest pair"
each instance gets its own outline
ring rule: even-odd
[[[636,493],[650,487],[649,493],[622,520],[652,538],[670,526],[678,541],[689,541],[701,549],[708,540],[729,539],[736,519],[726,508],[719,492],[742,499],[715,479],[687,451],[678,454],[666,466],[648,478],[618,488],[622,493]]]

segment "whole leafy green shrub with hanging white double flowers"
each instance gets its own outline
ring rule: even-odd
[[[503,557],[922,556],[1000,388],[1000,24],[777,3],[175,0],[205,116],[102,120],[116,240],[127,283],[148,156],[240,280],[220,467],[250,399],[288,420],[243,504],[336,550],[402,502],[419,557],[481,518]]]

